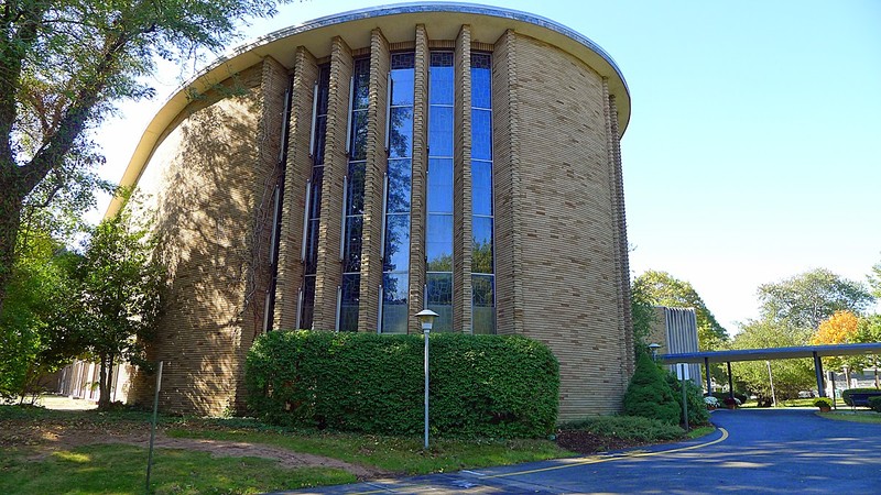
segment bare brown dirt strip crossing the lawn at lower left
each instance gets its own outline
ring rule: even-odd
[[[0,447],[28,447],[33,452],[34,459],[45,458],[59,450],[99,443],[124,443],[148,448],[150,427],[132,421],[115,421],[112,424],[34,422],[15,419],[0,421]],[[208,452],[216,457],[273,459],[281,465],[291,469],[335,468],[348,471],[359,480],[376,479],[388,474],[374,468],[351,464],[323,455],[294,452],[280,447],[224,440],[171,438],[161,428],[156,430],[154,446],[161,449]]]

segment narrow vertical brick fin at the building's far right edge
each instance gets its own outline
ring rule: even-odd
[[[607,85],[608,86],[608,85]],[[627,215],[624,209],[624,178],[623,167],[621,165],[621,132],[618,128],[618,105],[616,103],[614,95],[610,95],[609,103],[609,122],[611,124],[610,139],[611,139],[611,165],[612,177],[614,183],[612,186],[612,211],[616,216],[616,231],[618,232],[618,261],[620,263],[620,279],[621,279],[621,306],[624,309],[623,314],[623,328],[624,334],[624,349],[622,355],[624,359],[623,372],[626,376],[633,374],[635,369],[635,356],[633,353],[633,314],[631,312],[631,297],[630,297],[630,253],[627,240]],[[626,391],[626,388],[624,388]]]

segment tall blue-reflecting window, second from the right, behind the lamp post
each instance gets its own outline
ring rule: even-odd
[[[453,52],[432,52],[428,65],[426,302],[434,331],[453,330]]]

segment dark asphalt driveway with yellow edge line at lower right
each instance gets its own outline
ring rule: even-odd
[[[287,493],[879,493],[881,425],[814,409],[717,410],[696,442]]]

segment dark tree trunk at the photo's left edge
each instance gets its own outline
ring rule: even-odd
[[[21,222],[21,208],[24,195],[20,190],[18,174],[0,164],[0,314],[7,286],[12,279],[12,265],[15,262],[15,240]]]

